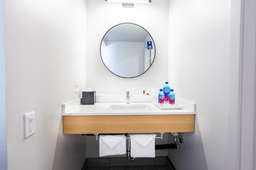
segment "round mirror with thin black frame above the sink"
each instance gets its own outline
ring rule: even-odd
[[[105,66],[119,77],[131,78],[145,73],[155,57],[151,35],[133,23],[113,26],[104,35],[100,53]]]

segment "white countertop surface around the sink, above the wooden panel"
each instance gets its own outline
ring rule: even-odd
[[[145,110],[109,110],[110,105],[129,105],[123,102],[97,102],[95,105],[77,105],[62,116],[102,116],[102,115],[168,115],[195,114],[189,109],[159,109],[151,102],[133,102],[130,105],[147,105]],[[65,109],[64,109],[65,110]]]

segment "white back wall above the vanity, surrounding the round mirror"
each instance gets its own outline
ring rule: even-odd
[[[100,56],[104,34],[116,24],[135,23],[153,37],[156,57],[149,70],[136,78],[125,79],[112,74]],[[121,3],[87,0],[87,87],[98,94],[141,94],[142,88],[161,88],[168,79],[168,0],[154,0],[150,4],[135,4],[122,8]],[[154,80],[154,81],[152,81]],[[136,82],[136,83],[135,83]]]

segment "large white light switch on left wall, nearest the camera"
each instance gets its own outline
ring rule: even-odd
[[[24,114],[24,130],[25,139],[35,133],[35,112]]]

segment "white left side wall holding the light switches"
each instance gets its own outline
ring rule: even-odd
[[[80,170],[84,136],[63,136],[61,104],[79,97],[85,79],[85,0],[6,0],[9,170]],[[24,139],[23,114],[36,112]]]

